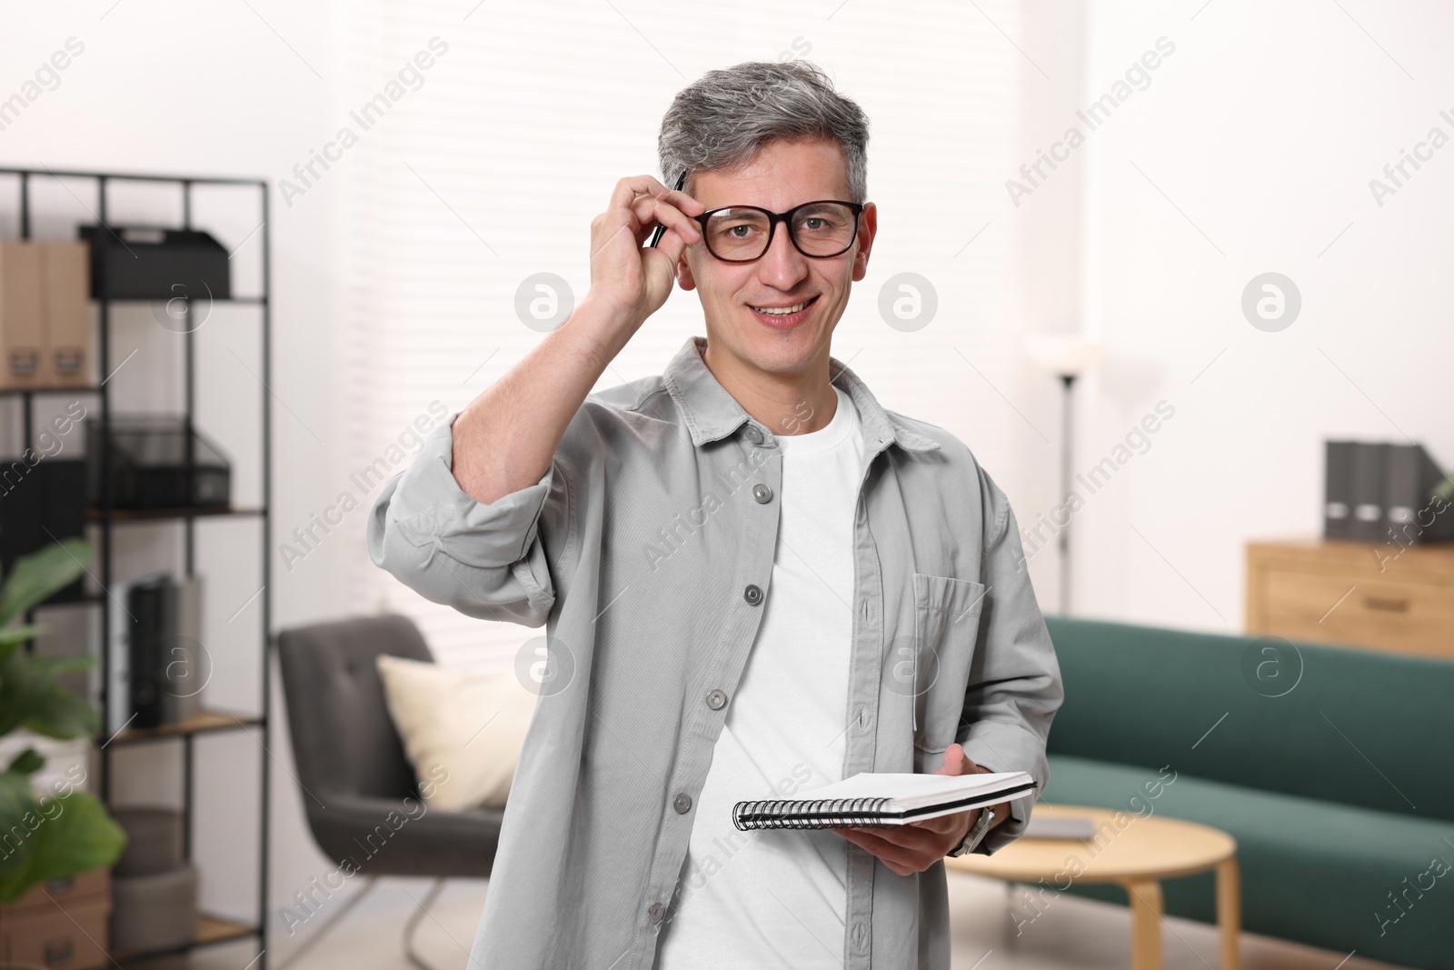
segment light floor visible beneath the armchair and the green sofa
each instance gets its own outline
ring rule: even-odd
[[[411,970],[400,935],[409,915],[419,912],[427,890],[427,880],[381,880],[343,923],[288,970]],[[484,893],[484,881],[454,880],[429,907],[416,945],[435,970],[467,970]],[[1130,966],[1130,913],[1124,906],[1061,896],[1016,937],[1009,919],[1011,902],[1003,883],[949,874],[954,970],[1124,970]],[[286,958],[304,938],[301,929],[292,938],[275,937],[269,966],[276,967],[276,960]],[[1216,970],[1216,928],[1172,918],[1166,921],[1162,939],[1166,970]],[[153,961],[147,970],[247,970],[254,957],[252,944],[227,944],[199,950],[189,963]],[[1243,935],[1242,966],[1245,970],[1393,970],[1357,954],[1349,957],[1252,935]]]

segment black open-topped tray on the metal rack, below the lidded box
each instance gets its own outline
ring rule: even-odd
[[[231,465],[185,417],[112,416],[111,505],[116,509],[225,506]],[[100,422],[86,422],[87,483],[92,505],[102,503]]]

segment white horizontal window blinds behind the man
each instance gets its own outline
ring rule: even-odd
[[[586,295],[590,220],[616,179],[662,177],[657,125],[675,93],[746,60],[806,57],[869,116],[880,236],[833,355],[885,407],[949,429],[992,467],[1028,433],[1002,397],[1015,397],[1003,186],[1021,163],[1018,3],[368,0],[348,17],[336,160],[316,170],[345,185],[345,473],[369,486],[365,506],[375,478],[404,467],[411,426],[436,426],[539,340],[515,314],[522,281],[554,273]],[[881,288],[904,272],[938,300],[912,332],[880,316]],[[694,333],[699,302],[678,291],[599,387],[659,374]],[[364,518],[348,519],[358,609],[410,615],[445,662],[509,665],[542,636],[423,601],[369,561]]]

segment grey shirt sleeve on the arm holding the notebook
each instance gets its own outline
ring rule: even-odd
[[[1050,779],[1045,739],[1064,689],[1009,499],[983,470],[980,489],[987,590],[957,740],[974,763],[1025,771],[1035,779],[1035,790],[1011,801],[1011,817],[990,829],[976,849],[993,854],[1024,833],[1031,807]]]

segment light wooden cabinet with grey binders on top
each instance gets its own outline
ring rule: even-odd
[[[1248,544],[1248,633],[1454,659],[1454,544]]]

